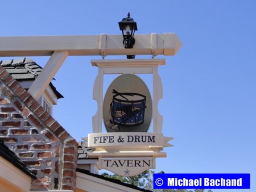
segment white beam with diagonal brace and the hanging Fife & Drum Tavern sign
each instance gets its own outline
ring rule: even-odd
[[[123,28],[121,29],[123,30]],[[28,89],[38,100],[68,56],[157,55],[173,56],[181,47],[174,33],[135,35],[133,48],[123,48],[121,35],[0,37],[0,56],[50,56],[42,72]],[[36,41],[36,44],[34,43]],[[24,43],[26,42],[26,43]],[[155,167],[155,157],[166,157],[172,146],[163,136],[163,117],[158,112],[162,82],[158,66],[164,59],[92,60],[98,67],[93,99],[93,133],[84,140],[98,158],[99,167],[123,176],[134,176]],[[119,74],[103,97],[105,74]],[[135,74],[152,74],[152,93]],[[106,132],[102,132],[102,123]],[[152,126],[152,132],[148,132]]]

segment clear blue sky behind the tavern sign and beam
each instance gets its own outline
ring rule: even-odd
[[[175,147],[164,149],[167,158],[156,160],[155,171],[250,173],[251,190],[243,191],[256,191],[256,1],[17,0],[0,5],[0,36],[121,34],[118,22],[128,11],[137,22],[135,34],[175,32],[183,43],[179,52],[156,57],[166,59],[159,67],[159,111],[163,133],[175,138]],[[31,58],[41,66],[49,59]],[[53,116],[77,140],[92,132],[96,112],[97,68],[91,59],[101,57],[68,57],[53,81],[65,97]]]

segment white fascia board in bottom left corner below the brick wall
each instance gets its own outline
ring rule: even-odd
[[[13,183],[22,191],[30,191],[31,177],[2,157],[0,157],[0,170],[0,177]]]

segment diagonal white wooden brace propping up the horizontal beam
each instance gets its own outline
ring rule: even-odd
[[[52,78],[55,76],[60,66],[65,61],[68,56],[67,51],[63,52],[54,52],[47,64],[44,66],[39,76],[31,85],[30,89],[28,89],[28,93],[32,95],[36,100],[38,100],[43,94],[46,87],[52,81]]]

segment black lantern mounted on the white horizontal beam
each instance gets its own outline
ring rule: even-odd
[[[133,48],[133,45],[135,43],[135,39],[133,36],[135,31],[137,31],[138,29],[137,23],[134,22],[133,18],[130,18],[130,12],[128,12],[127,18],[123,18],[118,24],[123,34],[123,45],[126,49]],[[133,56],[133,58],[128,57],[129,56],[127,56],[127,59],[134,59],[135,56]]]

